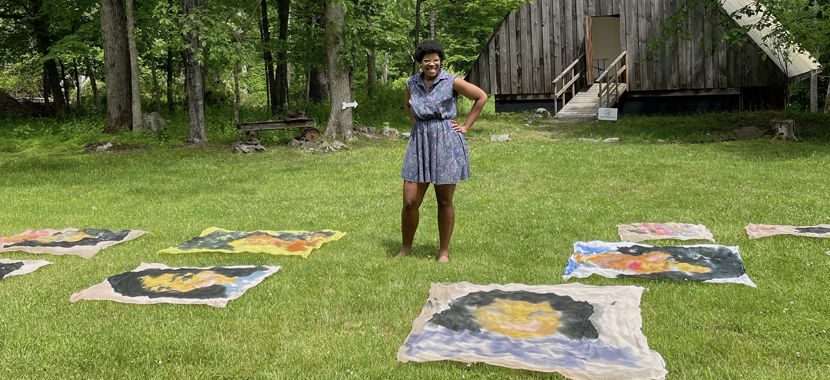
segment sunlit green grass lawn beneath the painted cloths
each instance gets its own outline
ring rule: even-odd
[[[241,156],[228,148],[232,133],[209,131],[215,145],[207,149],[159,144],[84,154],[88,141],[55,138],[64,145],[44,148],[33,137],[39,127],[0,125],[0,132],[17,131],[0,134],[0,235],[63,227],[152,232],[90,260],[2,255],[54,265],[0,281],[0,378],[559,379],[484,364],[399,364],[395,355],[430,283],[563,283],[574,242],[616,241],[618,223],[677,221],[704,224],[718,243],[740,246],[758,288],[597,276],[580,282],[646,288],[643,331],[669,379],[826,379],[830,239],[749,240],[744,226],[830,223],[828,119],[799,119],[801,143],[641,141],[694,141],[777,116],[530,127],[522,115],[485,116],[469,137],[510,133],[513,141],[469,142],[473,178],[458,186],[452,262],[443,265],[435,262],[432,191],[414,253],[392,259],[400,248],[403,140],[360,140],[327,155],[275,142],[268,153]],[[54,133],[66,125],[37,123]],[[305,260],[155,253],[212,226],[348,235]],[[669,243],[681,242],[654,244]],[[142,261],[282,270],[225,309],[69,302]]]

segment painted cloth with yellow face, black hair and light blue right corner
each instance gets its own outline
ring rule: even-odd
[[[228,301],[241,297],[279,269],[278,266],[253,265],[170,268],[164,264],[141,263],[131,272],[112,276],[73,294],[69,300],[225,307]]]

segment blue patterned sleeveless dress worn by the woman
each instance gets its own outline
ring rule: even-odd
[[[456,76],[441,70],[427,91],[423,74],[406,81],[415,126],[409,136],[401,177],[434,185],[455,184],[470,178],[470,155],[464,135],[452,129],[458,93]]]

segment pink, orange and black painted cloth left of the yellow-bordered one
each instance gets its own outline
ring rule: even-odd
[[[76,255],[88,259],[104,248],[135,239],[146,233],[148,232],[141,230],[110,231],[97,228],[27,230],[17,235],[0,237],[0,252],[23,251]]]

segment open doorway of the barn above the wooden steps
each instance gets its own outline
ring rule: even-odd
[[[590,17],[585,23],[585,52],[589,67],[588,80],[593,83],[622,53],[620,17]]]

